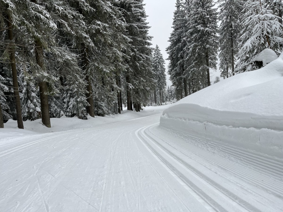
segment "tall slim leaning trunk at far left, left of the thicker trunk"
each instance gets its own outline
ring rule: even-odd
[[[12,69],[12,77],[13,77],[13,87],[14,87],[14,97],[16,103],[16,113],[17,113],[17,122],[18,128],[23,129],[23,117],[22,117],[22,107],[20,101],[19,94],[19,86],[18,86],[18,77],[17,77],[17,68],[16,68],[16,59],[15,59],[15,43],[13,38],[13,28],[12,28],[12,18],[10,13],[7,13],[7,24],[8,24],[8,37],[10,40],[10,64]]]

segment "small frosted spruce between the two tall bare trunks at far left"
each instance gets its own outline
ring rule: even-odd
[[[28,64],[20,63],[17,66],[20,76],[19,85],[22,92],[20,93],[23,120],[36,120],[38,114],[36,107],[40,108],[40,99],[38,98],[38,89],[35,86],[35,79],[31,75]]]

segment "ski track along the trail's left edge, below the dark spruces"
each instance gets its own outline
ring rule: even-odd
[[[74,130],[68,130],[66,133],[60,133],[59,135],[53,135],[53,136],[50,136],[50,137],[47,137],[47,138],[31,141],[31,142],[21,144],[21,145],[9,148],[7,150],[4,150],[4,151],[0,152],[0,158],[5,156],[5,155],[8,155],[10,153],[17,152],[18,150],[21,150],[21,149],[26,148],[28,146],[32,146],[34,144],[37,144],[39,142],[46,141],[46,140],[49,140],[49,139],[61,137],[61,136],[64,136],[64,135],[69,135],[69,134],[72,134],[72,133],[78,133],[78,132],[83,132],[83,131],[91,131],[91,130],[95,130],[95,129],[100,129],[100,128],[104,128],[104,127],[108,127],[108,126],[113,126],[113,125],[116,125],[116,124],[131,123],[131,122],[135,122],[137,120],[143,120],[143,119],[151,118],[151,117],[155,117],[155,116],[160,116],[160,114],[145,116],[145,117],[141,117],[141,118],[134,118],[134,119],[131,119],[131,120],[125,120],[125,121],[115,122],[115,123],[111,123],[111,124],[105,124],[105,125],[102,125],[102,126],[92,127],[92,128],[88,128],[88,129],[79,129],[79,130],[75,130],[75,131]],[[44,134],[47,134],[47,133],[44,133]],[[39,135],[36,135],[36,136],[39,136]],[[19,139],[19,140],[21,140],[21,139]]]

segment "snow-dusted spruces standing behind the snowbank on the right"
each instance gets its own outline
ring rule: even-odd
[[[282,1],[218,0],[217,4],[219,12],[213,0],[177,0],[167,48],[177,99],[211,85],[210,70],[216,69],[217,57],[225,79],[261,68],[256,56],[264,49],[277,55],[282,51]]]

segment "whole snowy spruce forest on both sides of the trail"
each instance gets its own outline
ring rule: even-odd
[[[217,3],[217,5],[216,5]],[[177,0],[168,74],[143,0],[1,0],[0,127],[9,119],[87,119],[175,102],[252,71],[283,47],[280,0]],[[171,23],[168,23],[171,24]],[[215,83],[219,78],[215,80]]]

